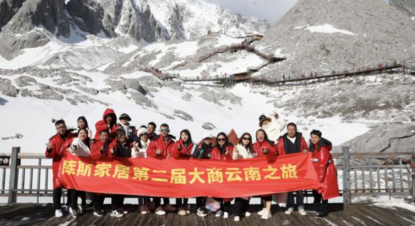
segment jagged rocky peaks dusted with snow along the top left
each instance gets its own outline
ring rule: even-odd
[[[269,28],[266,21],[234,15],[202,0],[1,1],[0,18],[0,55],[6,59],[17,57],[24,48],[44,46],[55,37],[73,44],[86,35],[127,36],[125,45],[139,45],[200,37],[208,30],[241,35]]]

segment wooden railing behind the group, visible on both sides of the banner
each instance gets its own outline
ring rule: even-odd
[[[351,204],[359,196],[411,196],[414,202],[415,152],[350,153],[349,147],[342,147],[342,153],[332,155],[342,178],[343,203]],[[44,153],[20,153],[19,147],[13,147],[11,153],[0,156],[10,156],[10,165],[0,166],[0,197],[8,197],[9,205],[18,203],[21,196],[37,198],[37,203],[39,197],[53,196],[51,160]],[[382,160],[392,163],[380,164]]]

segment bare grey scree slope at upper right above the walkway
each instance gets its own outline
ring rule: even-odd
[[[415,62],[413,37],[414,21],[380,0],[299,0],[254,44],[288,59],[258,75],[358,70],[395,59]]]

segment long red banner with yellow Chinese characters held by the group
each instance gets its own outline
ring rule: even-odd
[[[95,161],[68,155],[60,178],[67,189],[102,194],[234,198],[302,189],[321,190],[311,153],[234,161],[113,158]]]

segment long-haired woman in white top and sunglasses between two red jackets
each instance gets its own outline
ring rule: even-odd
[[[252,146],[252,136],[249,133],[243,133],[239,138],[238,144],[234,147],[232,153],[233,160],[239,160],[243,158],[255,158],[257,153],[254,151]],[[234,221],[240,221],[241,216],[250,216],[249,208],[249,197],[235,198],[235,217]]]

